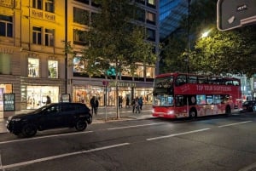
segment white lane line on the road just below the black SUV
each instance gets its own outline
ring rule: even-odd
[[[67,133],[67,134],[52,134],[52,135],[46,135],[46,136],[42,136],[42,137],[33,137],[33,138],[28,138],[28,139],[7,140],[7,141],[0,142],[0,145],[14,143],[14,142],[27,141],[27,140],[39,140],[39,139],[46,139],[46,138],[51,138],[51,137],[61,137],[61,136],[67,136],[67,135],[73,135],[73,134],[87,134],[87,133],[92,133],[92,132],[93,131]]]

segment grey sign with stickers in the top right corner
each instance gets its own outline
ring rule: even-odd
[[[228,31],[253,23],[256,23],[256,0],[218,0],[219,31]]]

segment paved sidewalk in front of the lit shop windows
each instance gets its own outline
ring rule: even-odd
[[[94,123],[105,123],[113,121],[124,121],[124,120],[135,120],[135,119],[147,119],[151,118],[152,106],[144,105],[141,113],[132,113],[132,107],[123,107],[119,109],[119,119],[116,116],[116,107],[115,106],[100,106],[98,109],[97,115],[93,115],[92,124]],[[30,111],[30,110],[28,110]],[[15,115],[20,113],[26,113],[27,111],[15,111]],[[0,134],[7,133],[6,123],[7,118],[0,118]]]

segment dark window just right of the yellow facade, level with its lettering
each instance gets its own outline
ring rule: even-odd
[[[89,11],[84,9],[73,8],[73,22],[81,25],[89,24]]]

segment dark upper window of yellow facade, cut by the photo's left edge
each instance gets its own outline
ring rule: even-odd
[[[13,37],[13,17],[0,14],[0,36]]]

